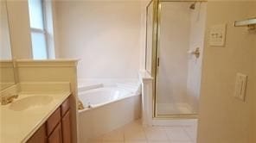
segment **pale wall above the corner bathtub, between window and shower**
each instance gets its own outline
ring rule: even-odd
[[[54,3],[58,58],[79,58],[78,77],[137,78],[140,1]]]

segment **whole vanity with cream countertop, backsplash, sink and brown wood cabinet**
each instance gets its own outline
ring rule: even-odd
[[[14,93],[17,98],[0,107],[1,142],[74,142],[69,83],[19,83],[1,91],[2,96]]]

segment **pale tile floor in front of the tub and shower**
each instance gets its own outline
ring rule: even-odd
[[[89,143],[195,143],[196,125],[143,127],[133,121]]]

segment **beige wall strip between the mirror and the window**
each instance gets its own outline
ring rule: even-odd
[[[8,1],[7,9],[13,57],[16,59],[31,59],[32,50],[28,1]]]

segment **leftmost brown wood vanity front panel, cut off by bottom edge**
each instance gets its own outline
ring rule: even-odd
[[[46,143],[46,141],[46,127],[43,124],[26,143]]]

